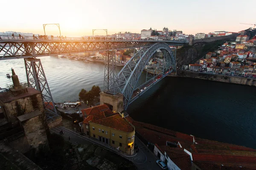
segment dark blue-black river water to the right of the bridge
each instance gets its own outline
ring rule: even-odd
[[[256,148],[256,88],[166,77],[131,103],[137,121]]]

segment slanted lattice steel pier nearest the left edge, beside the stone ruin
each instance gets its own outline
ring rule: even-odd
[[[40,59],[24,59],[28,86],[42,93],[47,120],[58,115]]]

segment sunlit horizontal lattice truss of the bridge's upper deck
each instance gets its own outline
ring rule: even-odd
[[[106,51],[123,48],[149,47],[157,40],[0,40],[0,60]],[[184,42],[162,41],[169,45]]]

